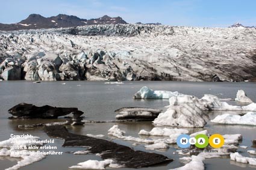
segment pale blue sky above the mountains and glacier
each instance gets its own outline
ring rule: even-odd
[[[120,16],[126,22],[178,26],[256,25],[255,0],[0,0],[0,23],[16,23],[31,13],[84,19]]]

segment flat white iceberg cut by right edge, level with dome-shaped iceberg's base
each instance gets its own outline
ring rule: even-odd
[[[231,114],[218,115],[211,120],[211,122],[218,124],[243,124],[256,126],[256,112],[248,112],[243,116]]]

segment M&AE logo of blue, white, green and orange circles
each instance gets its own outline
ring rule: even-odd
[[[180,148],[188,148],[190,145],[195,145],[198,148],[205,148],[209,144],[213,148],[220,148],[224,145],[224,138],[220,134],[213,134],[210,138],[204,134],[199,134],[195,137],[182,134],[178,136],[176,143]]]

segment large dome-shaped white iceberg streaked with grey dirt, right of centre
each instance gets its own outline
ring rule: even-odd
[[[208,115],[195,103],[170,106],[166,112],[158,115],[153,121],[157,126],[204,127]]]

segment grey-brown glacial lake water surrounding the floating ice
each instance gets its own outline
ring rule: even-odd
[[[62,84],[66,83],[66,84]],[[256,83],[249,82],[124,82],[123,84],[105,84],[104,82],[88,82],[88,81],[67,81],[67,82],[42,82],[33,83],[30,81],[2,81],[0,82],[0,141],[10,138],[10,134],[22,135],[31,134],[39,136],[41,139],[52,139],[43,132],[43,128],[35,129],[19,129],[19,124],[36,124],[46,122],[64,121],[63,118],[58,120],[8,120],[10,115],[8,109],[18,103],[33,103],[36,106],[51,105],[60,107],[77,107],[84,112],[84,120],[115,120],[116,109],[124,106],[140,106],[163,109],[169,105],[168,100],[134,100],[133,94],[140,90],[141,87],[147,86],[153,90],[168,90],[179,91],[183,94],[194,95],[201,98],[204,94],[213,94],[219,98],[236,97],[237,90],[245,90],[248,97],[256,102]],[[233,105],[240,103],[231,101]],[[210,118],[213,119],[216,115],[225,112],[210,112]],[[114,124],[118,124],[121,130],[125,130],[125,135],[139,137],[140,130],[151,130],[154,125],[151,122],[126,122],[126,123],[86,123],[84,126],[67,126],[67,129],[76,134],[86,135],[105,135],[104,139],[112,140],[122,145],[133,147],[135,150],[145,150],[143,144],[133,146],[133,141],[122,141],[113,139],[107,135],[107,130]],[[209,133],[237,134],[243,135],[241,145],[248,146],[247,149],[239,148],[243,156],[254,157],[249,155],[247,150],[255,150],[252,148],[252,139],[256,139],[256,127],[254,126],[239,126],[239,125],[219,125],[208,122],[204,128],[188,129],[191,133],[207,129]],[[69,169],[69,166],[86,160],[101,160],[101,157],[95,154],[74,155],[69,151],[84,150],[84,148],[61,147],[62,139],[54,139],[55,143],[51,146],[56,146],[57,150],[63,151],[61,156],[46,156],[40,162],[33,163],[20,169]],[[49,145],[49,144],[48,144]],[[170,145],[170,148],[165,151],[154,150],[150,152],[163,154],[174,159],[173,162],[167,165],[161,165],[151,168],[141,169],[172,169],[183,166],[179,158],[184,157],[178,154],[173,154],[178,147]],[[148,151],[149,152],[149,151]],[[1,169],[8,168],[17,163],[20,159],[10,157],[0,157]],[[206,169],[255,169],[255,166],[249,166],[244,163],[233,162],[229,157],[206,159]],[[107,169],[111,169],[108,168]],[[113,169],[113,168],[112,168]],[[114,168],[114,169],[130,169],[130,168]]]

